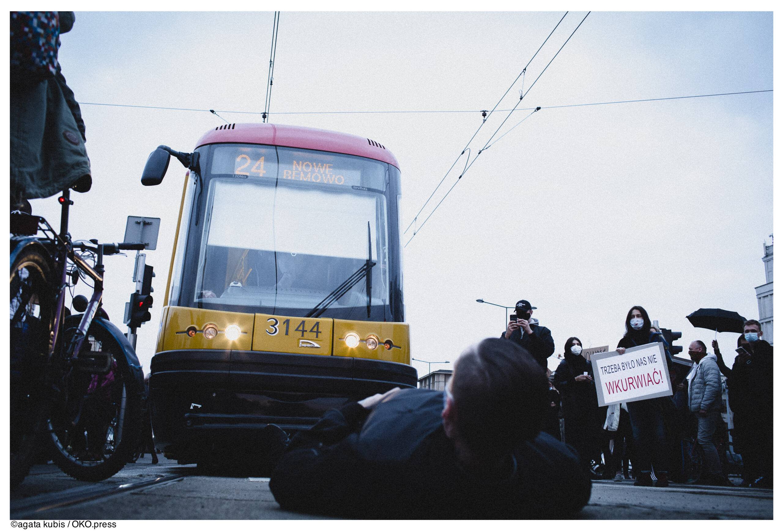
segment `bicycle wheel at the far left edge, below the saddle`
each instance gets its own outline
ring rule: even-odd
[[[11,265],[10,437],[11,488],[30,471],[48,416],[45,374],[54,300],[48,257],[27,247]]]

